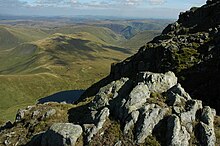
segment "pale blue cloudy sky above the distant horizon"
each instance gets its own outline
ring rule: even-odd
[[[206,0],[0,0],[0,15],[177,18]]]

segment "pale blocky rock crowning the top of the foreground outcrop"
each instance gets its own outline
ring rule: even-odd
[[[138,81],[144,82],[150,92],[163,93],[177,84],[177,77],[170,71],[165,74],[142,72],[139,74]]]

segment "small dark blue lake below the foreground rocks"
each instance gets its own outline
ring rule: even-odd
[[[84,90],[69,90],[55,93],[53,95],[41,98],[38,100],[39,104],[47,103],[47,102],[66,102],[66,103],[74,103],[79,99],[79,97],[84,93]]]

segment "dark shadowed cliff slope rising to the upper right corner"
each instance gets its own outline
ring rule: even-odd
[[[173,71],[193,98],[220,112],[220,1],[181,13],[163,33],[125,61],[113,64],[111,74],[89,88],[85,96],[121,77],[140,71]]]

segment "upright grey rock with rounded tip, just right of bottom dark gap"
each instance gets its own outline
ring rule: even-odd
[[[188,146],[190,134],[184,126],[181,126],[179,117],[172,115],[168,118],[167,123],[167,145]]]

